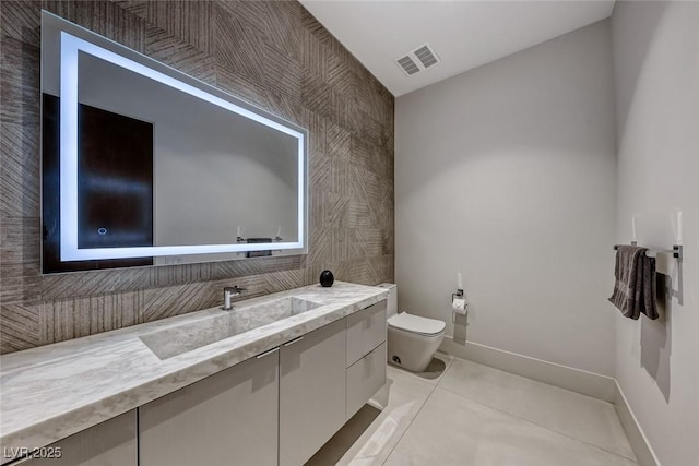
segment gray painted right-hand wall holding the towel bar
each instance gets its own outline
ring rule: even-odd
[[[677,242],[665,319],[616,315],[616,378],[664,466],[699,464],[699,3],[617,1],[612,16],[618,145],[616,237]]]

